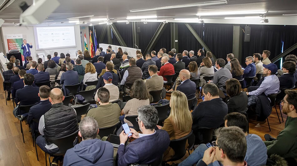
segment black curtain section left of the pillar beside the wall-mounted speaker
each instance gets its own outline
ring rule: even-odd
[[[205,23],[203,41],[216,58],[226,60],[233,51],[233,24]]]

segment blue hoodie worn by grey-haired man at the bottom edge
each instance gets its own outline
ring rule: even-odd
[[[84,140],[67,150],[63,166],[68,165],[113,166],[113,146],[108,141],[100,139]]]

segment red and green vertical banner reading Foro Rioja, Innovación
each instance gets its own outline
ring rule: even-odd
[[[7,34],[7,45],[8,52],[12,49],[18,49],[18,51],[23,55],[21,51],[21,45],[23,44],[23,34]],[[22,60],[24,61],[24,56],[22,56]]]

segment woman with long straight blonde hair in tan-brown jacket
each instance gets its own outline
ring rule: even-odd
[[[189,112],[187,97],[183,92],[174,91],[171,94],[171,112],[165,119],[164,126],[158,126],[168,132],[170,140],[179,139],[188,135],[192,130],[192,114]],[[186,143],[187,148],[189,145]],[[164,152],[163,161],[167,161],[174,156],[174,150],[170,147]]]

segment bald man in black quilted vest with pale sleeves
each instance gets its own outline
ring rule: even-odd
[[[36,138],[36,144],[45,153],[53,154],[59,151],[59,147],[47,139],[60,138],[77,132],[78,122],[75,110],[63,104],[64,96],[61,89],[52,89],[48,99],[52,106],[40,117],[38,130],[41,135]],[[62,161],[62,156],[54,156],[52,165],[58,165],[58,160]]]

